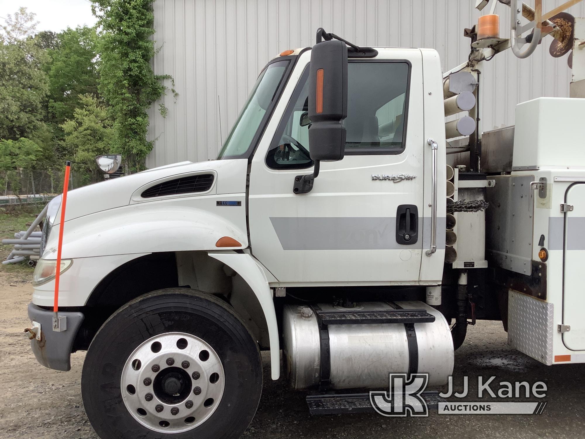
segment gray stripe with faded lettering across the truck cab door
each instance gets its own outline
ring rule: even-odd
[[[270,222],[284,250],[398,250],[420,249],[396,242],[396,218],[379,217],[271,217]],[[437,248],[445,248],[446,218],[438,218]],[[425,243],[430,241],[431,220],[427,218]],[[426,225],[425,224],[425,225]],[[419,231],[422,218],[419,218]],[[429,238],[426,238],[429,236]]]

